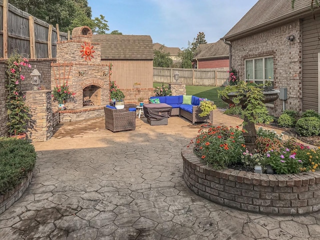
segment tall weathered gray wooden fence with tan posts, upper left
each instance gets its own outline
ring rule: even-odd
[[[15,50],[28,58],[56,57],[56,43],[70,39],[70,32],[59,32],[29,13],[0,0],[0,58],[7,58]]]

